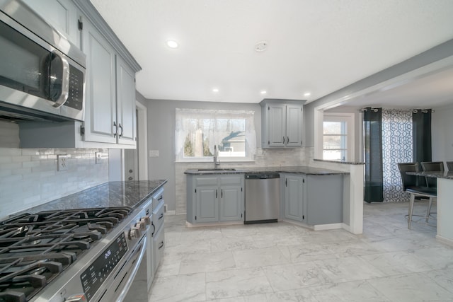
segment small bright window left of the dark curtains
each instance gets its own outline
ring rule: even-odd
[[[346,122],[323,122],[323,159],[345,161]]]

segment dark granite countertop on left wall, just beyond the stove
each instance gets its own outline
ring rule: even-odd
[[[84,209],[103,207],[136,208],[151,197],[154,192],[165,185],[167,180],[140,180],[125,182],[105,182],[66,197],[52,200],[37,207],[30,208],[27,213],[55,209]],[[20,213],[16,213],[17,215]]]

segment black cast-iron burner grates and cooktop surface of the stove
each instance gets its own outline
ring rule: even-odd
[[[91,248],[129,207],[21,214],[0,223],[0,301],[28,301]]]

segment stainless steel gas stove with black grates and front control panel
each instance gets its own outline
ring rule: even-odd
[[[128,258],[143,254],[146,217],[140,209],[109,207],[1,221],[0,302],[113,301],[107,289],[122,280],[112,275],[120,274]]]

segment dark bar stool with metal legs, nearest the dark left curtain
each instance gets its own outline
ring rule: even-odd
[[[403,182],[403,191],[411,194],[409,200],[409,211],[408,211],[408,229],[411,229],[412,214],[413,214],[413,203],[415,197],[425,197],[429,199],[428,209],[426,210],[426,222],[428,222],[430,216],[430,209],[432,199],[437,197],[436,187],[424,187],[418,185],[418,178],[415,175],[408,175],[406,172],[418,172],[418,163],[398,163],[399,173],[401,174],[401,180]]]

